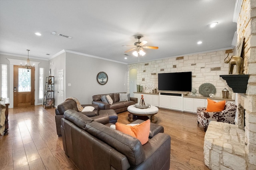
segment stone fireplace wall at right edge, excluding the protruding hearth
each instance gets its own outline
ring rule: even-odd
[[[244,74],[249,74],[246,94],[238,94],[245,109],[247,169],[256,169],[256,0],[243,0],[237,23],[238,41],[244,36]]]

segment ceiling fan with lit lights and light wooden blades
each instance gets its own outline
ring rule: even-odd
[[[127,53],[129,51],[136,49],[136,51],[134,51],[132,54],[136,57],[140,57],[146,54],[144,52],[144,49],[158,49],[158,47],[154,47],[154,46],[144,46],[146,43],[148,43],[148,41],[143,40],[142,42],[140,42],[141,36],[137,36],[137,38],[138,38],[138,42],[134,43],[134,45],[122,45],[127,47],[134,47],[132,49],[124,51],[124,53]]]

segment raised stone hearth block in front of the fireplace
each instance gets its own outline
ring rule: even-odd
[[[246,170],[244,131],[211,121],[204,136],[204,163],[212,170]]]

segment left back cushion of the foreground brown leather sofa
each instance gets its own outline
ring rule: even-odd
[[[78,127],[80,127],[81,129],[85,128],[86,123],[90,123],[93,121],[92,118],[83,115],[77,111],[74,111],[72,109],[68,109],[64,112],[64,118],[78,125]]]

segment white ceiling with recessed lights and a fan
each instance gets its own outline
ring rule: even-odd
[[[122,47],[134,45],[137,35],[148,41],[147,46],[159,47],[145,49],[141,62],[230,49],[235,4],[236,0],[0,0],[0,53],[26,57],[30,49],[30,58],[48,60],[65,49],[138,63],[132,51],[124,55],[130,47]],[[212,22],[218,25],[208,27]]]

